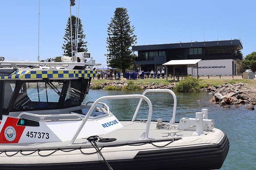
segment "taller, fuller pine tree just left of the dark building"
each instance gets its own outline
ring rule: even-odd
[[[109,66],[125,70],[134,63],[131,46],[136,44],[137,36],[133,34],[134,26],[130,26],[126,8],[116,8],[114,17],[108,24],[107,63]]]

